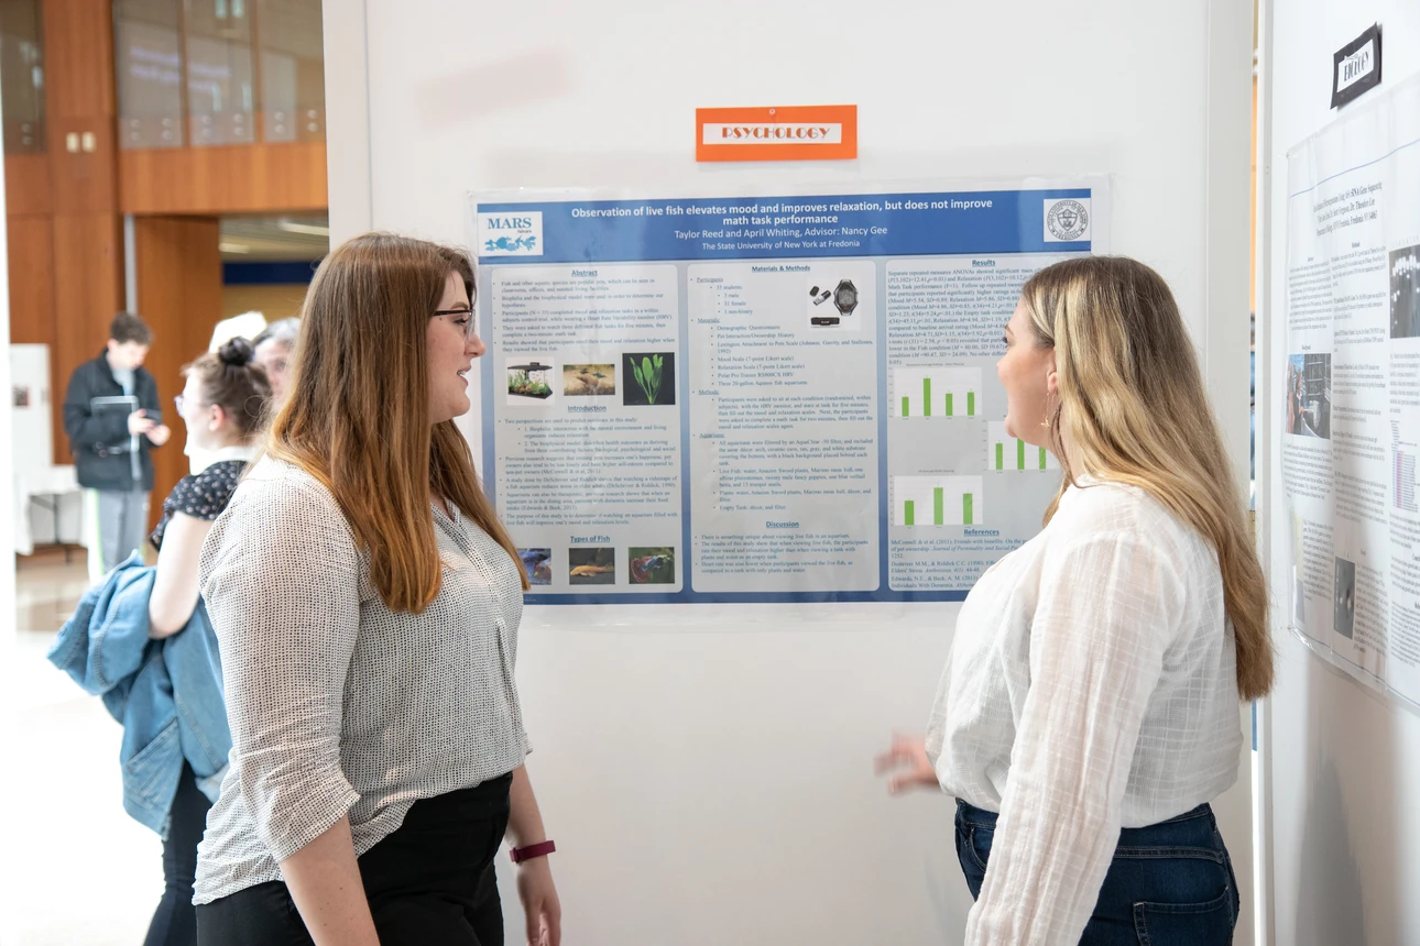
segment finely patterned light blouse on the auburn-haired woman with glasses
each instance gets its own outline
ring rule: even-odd
[[[281,879],[277,864],[341,816],[358,857],[419,798],[523,764],[518,564],[452,513],[435,509],[443,587],[409,614],[385,607],[314,477],[267,458],[237,486],[202,549],[231,756],[195,903]]]

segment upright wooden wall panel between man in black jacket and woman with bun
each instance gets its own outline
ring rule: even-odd
[[[173,437],[153,451],[152,525],[162,501],[187,475],[187,431],[173,408],[182,393],[182,366],[207,350],[222,319],[222,254],[216,217],[136,217],[133,251],[138,315],[153,329],[148,370],[158,380],[163,420]]]

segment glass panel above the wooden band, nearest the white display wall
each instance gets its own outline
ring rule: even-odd
[[[325,140],[320,0],[258,0],[261,130],[268,142]]]

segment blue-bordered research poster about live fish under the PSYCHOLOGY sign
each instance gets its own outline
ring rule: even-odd
[[[1103,179],[480,193],[469,234],[528,601],[951,601],[1039,530],[995,362]]]

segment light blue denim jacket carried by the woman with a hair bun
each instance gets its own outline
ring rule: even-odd
[[[119,764],[124,810],[168,837],[168,814],[182,763],[216,801],[231,752],[222,692],[217,635],[202,600],[187,627],[160,641],[148,637],[155,569],[135,552],[88,590],[50,648],[50,661],[104,698],[124,725]]]

